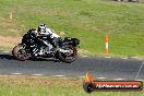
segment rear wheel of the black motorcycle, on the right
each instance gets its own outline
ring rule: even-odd
[[[67,63],[71,63],[71,62],[75,61],[76,58],[77,58],[77,50],[76,50],[76,48],[72,47],[72,46],[69,46],[69,47],[67,47],[64,49],[67,49],[67,50],[69,49],[70,52],[69,53],[64,53],[64,52],[58,51],[59,59],[61,61],[63,61],[63,62],[67,62]]]

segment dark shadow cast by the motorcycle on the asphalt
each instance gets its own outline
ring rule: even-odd
[[[16,60],[12,55],[0,55],[0,59],[7,59],[7,60]],[[58,59],[52,58],[36,58],[36,59],[28,59],[29,61],[55,61],[60,62]]]

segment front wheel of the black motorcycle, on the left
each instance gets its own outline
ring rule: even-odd
[[[14,56],[15,59],[20,61],[25,61],[31,58],[31,53],[26,51],[25,47],[26,46],[24,44],[19,44],[13,48],[12,55]]]

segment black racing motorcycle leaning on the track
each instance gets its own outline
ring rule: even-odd
[[[38,46],[38,56],[33,57],[33,51],[31,48],[31,35],[34,34],[33,31],[27,32],[23,38],[21,44],[15,46],[12,50],[12,55],[15,59],[25,61],[31,58],[55,58],[60,61],[71,63],[77,58],[77,45],[80,40],[77,38],[64,37],[58,41],[59,48],[55,48],[55,46],[50,43],[50,37],[45,36],[36,36],[34,35],[35,45]]]

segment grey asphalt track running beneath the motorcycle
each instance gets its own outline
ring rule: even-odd
[[[39,59],[17,61],[10,53],[0,53],[0,75],[48,75],[81,77],[89,71],[97,79],[135,80],[143,60],[79,57],[73,63]],[[137,80],[144,80],[144,67]]]

